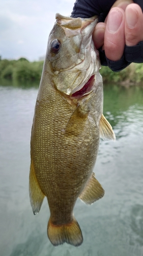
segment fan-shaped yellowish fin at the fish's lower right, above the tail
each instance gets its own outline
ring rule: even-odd
[[[93,204],[95,201],[99,200],[104,196],[104,189],[95,178],[95,174],[92,174],[90,181],[84,190],[80,194],[79,198],[86,204]]]

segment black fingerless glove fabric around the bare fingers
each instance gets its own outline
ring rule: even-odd
[[[90,18],[99,16],[99,22],[104,22],[111,6],[116,0],[76,0],[71,17]],[[143,11],[143,0],[134,0]],[[125,46],[124,54],[118,61],[111,61],[105,56],[105,52],[99,49],[102,66],[108,66],[112,71],[118,72],[125,69],[131,62],[143,63],[143,41],[136,46]]]

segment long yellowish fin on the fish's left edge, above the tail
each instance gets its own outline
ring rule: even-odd
[[[38,180],[36,178],[33,161],[31,162],[31,167],[30,167],[29,190],[30,190],[31,206],[32,206],[34,215],[36,215],[40,211],[45,195],[43,194],[39,186]]]

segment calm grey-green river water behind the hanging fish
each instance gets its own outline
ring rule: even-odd
[[[143,88],[104,86],[104,115],[116,142],[102,141],[94,172],[105,190],[91,206],[74,208],[83,244],[53,247],[49,208],[33,215],[28,196],[30,136],[38,89],[0,87],[0,255],[143,255]]]

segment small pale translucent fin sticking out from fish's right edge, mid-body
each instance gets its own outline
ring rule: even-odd
[[[100,138],[103,140],[116,140],[115,133],[103,114],[100,119]]]

